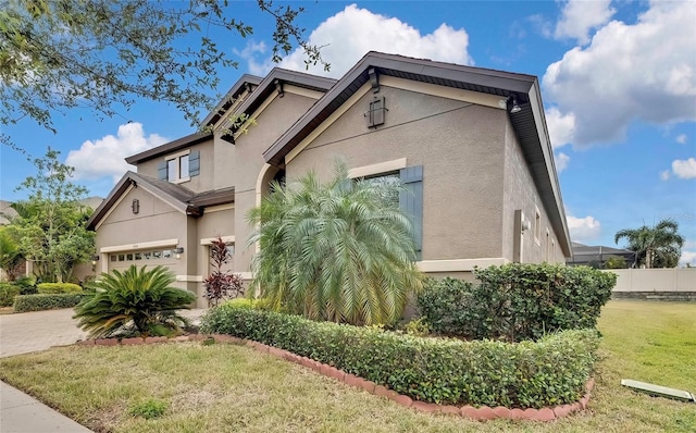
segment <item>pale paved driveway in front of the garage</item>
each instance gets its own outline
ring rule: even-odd
[[[0,357],[46,350],[84,339],[72,308],[0,316]]]

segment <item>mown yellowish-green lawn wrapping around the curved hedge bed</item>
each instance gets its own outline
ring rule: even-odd
[[[0,379],[98,432],[693,432],[696,404],[622,387],[696,392],[696,304],[611,301],[589,410],[551,423],[431,416],[246,346],[74,346],[0,359]],[[70,372],[70,373],[66,373]],[[129,408],[149,398],[165,415]]]

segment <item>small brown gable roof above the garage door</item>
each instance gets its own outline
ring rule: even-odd
[[[97,207],[87,220],[87,230],[96,230],[97,225],[109,214],[123,195],[130,187],[141,187],[148,193],[167,202],[177,211],[189,216],[200,216],[209,206],[231,203],[235,201],[235,188],[224,188],[196,194],[181,185],[160,181],[142,174],[126,172],[121,181],[111,189],[109,196]]]

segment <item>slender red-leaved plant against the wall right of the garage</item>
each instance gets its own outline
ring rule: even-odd
[[[222,267],[232,260],[225,242],[219,236],[210,246],[210,264],[213,268],[210,276],[203,280],[206,298],[211,307],[217,306],[221,299],[232,299],[244,295],[241,276]]]

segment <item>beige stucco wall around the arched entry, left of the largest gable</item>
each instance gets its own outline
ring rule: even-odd
[[[275,95],[275,94],[274,94]],[[265,161],[263,151],[287,131],[314,103],[314,99],[285,92],[258,115],[246,134],[236,141],[235,184],[235,271],[248,272],[252,249],[245,248],[250,227],[247,212],[257,205],[257,181]]]

